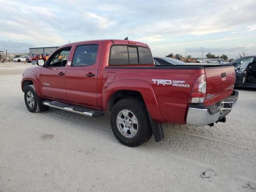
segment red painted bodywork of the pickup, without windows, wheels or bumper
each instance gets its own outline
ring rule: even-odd
[[[72,46],[68,57],[68,62],[72,62],[76,46],[98,44],[96,63],[85,67],[72,67],[72,65],[67,64],[61,68],[41,66],[29,68],[23,74],[22,90],[24,91],[24,82],[32,80],[36,93],[41,98],[104,111],[108,111],[110,98],[116,91],[138,91],[154,120],[175,124],[186,123],[190,92],[200,75],[206,74],[206,94],[214,94],[212,98],[205,100],[204,105],[210,106],[230,96],[233,92],[235,73],[234,68],[230,66],[202,69],[188,69],[188,67],[185,67],[186,69],[175,67],[160,69],[160,67],[154,67],[152,64],[143,65],[152,66],[152,69],[136,68],[139,67],[138,65],[134,65],[134,67],[131,65],[125,66],[126,68],[108,66],[110,47],[113,43],[148,47],[144,43],[127,40],[94,40],[64,45],[56,51]],[[108,68],[106,68],[107,66]],[[59,76],[58,73],[60,72],[65,73],[65,75]],[[86,76],[88,73],[95,74],[95,76],[88,77]],[[221,73],[226,73],[225,81],[220,77]],[[154,84],[152,79],[183,80],[190,87],[157,85]],[[45,86],[43,84],[45,82],[49,83],[50,86]]]

